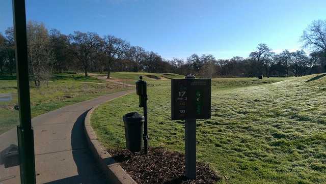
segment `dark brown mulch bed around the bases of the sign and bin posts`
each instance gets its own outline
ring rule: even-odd
[[[222,179],[208,165],[197,162],[197,179],[184,176],[184,156],[164,148],[150,148],[148,155],[133,155],[128,150],[108,150],[116,162],[138,183],[216,183]]]

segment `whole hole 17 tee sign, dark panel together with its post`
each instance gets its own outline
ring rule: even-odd
[[[171,81],[172,120],[185,120],[185,176],[196,179],[196,119],[209,119],[211,109],[211,79]]]

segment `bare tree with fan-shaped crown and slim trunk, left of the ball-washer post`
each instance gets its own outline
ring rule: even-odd
[[[130,48],[128,42],[112,35],[104,36],[103,51],[106,54],[107,78],[110,79],[111,67],[115,60],[121,59]]]

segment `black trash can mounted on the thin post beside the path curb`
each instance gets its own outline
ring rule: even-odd
[[[123,116],[126,145],[131,152],[142,150],[144,119],[138,112],[130,112]]]

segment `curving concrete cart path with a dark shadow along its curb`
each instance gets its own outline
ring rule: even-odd
[[[132,90],[66,106],[32,119],[37,183],[106,183],[87,147],[83,122],[87,112]],[[0,151],[17,145],[16,129],[0,135]],[[19,166],[5,168],[0,160],[0,184],[20,183]]]

